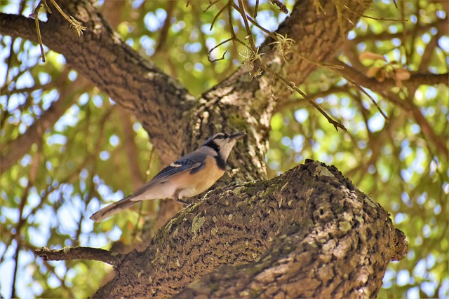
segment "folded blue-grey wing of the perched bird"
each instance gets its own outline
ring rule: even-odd
[[[197,172],[199,169],[203,168],[205,162],[197,162],[197,161],[206,161],[206,156],[203,157],[203,153],[199,153],[198,151],[189,153],[184,157],[180,158],[176,162],[171,163],[166,168],[162,169],[159,174],[156,174],[154,178],[145,183],[142,187],[135,190],[133,193],[133,197],[141,195],[142,193],[147,192],[157,186],[159,183],[163,183],[173,178],[173,176],[177,176],[182,172],[187,172],[187,170],[191,170],[192,172]]]

